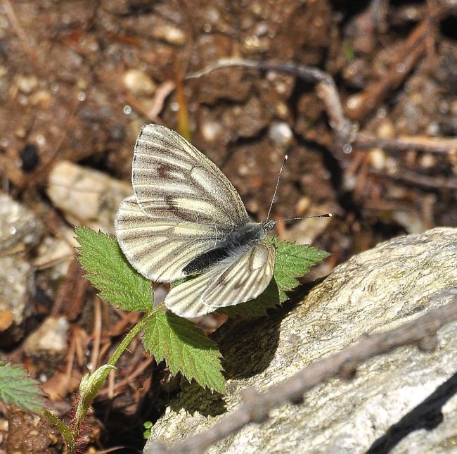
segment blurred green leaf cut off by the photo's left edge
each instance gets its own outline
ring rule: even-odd
[[[0,364],[0,400],[31,412],[41,412],[44,405],[43,391],[38,382],[27,377],[20,365]]]

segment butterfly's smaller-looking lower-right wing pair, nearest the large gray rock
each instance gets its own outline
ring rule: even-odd
[[[202,275],[176,286],[165,305],[181,317],[199,317],[219,307],[249,301],[273,277],[275,248],[261,241],[236,258],[228,258]]]

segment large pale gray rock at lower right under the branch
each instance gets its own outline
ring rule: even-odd
[[[457,293],[457,229],[399,237],[333,270],[300,304],[254,322],[222,327],[228,393],[184,384],[154,425],[153,441],[173,443],[239,407],[240,391],[265,392],[306,365],[448,303]],[[285,404],[208,453],[449,453],[456,450],[457,323],[439,331],[439,348],[399,348],[373,358],[345,382],[332,379],[299,405]],[[184,382],[184,381],[183,381]]]

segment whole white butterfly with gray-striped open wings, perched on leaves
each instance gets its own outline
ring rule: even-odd
[[[271,281],[275,221],[250,222],[240,195],[206,156],[176,132],[144,125],[134,149],[134,195],[121,203],[116,236],[131,265],[156,282],[198,275],[165,305],[198,317],[255,298]]]

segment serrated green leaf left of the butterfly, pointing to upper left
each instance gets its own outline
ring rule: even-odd
[[[86,227],[76,227],[75,232],[81,245],[79,262],[100,297],[122,310],[152,310],[150,282],[131,267],[117,241]]]

